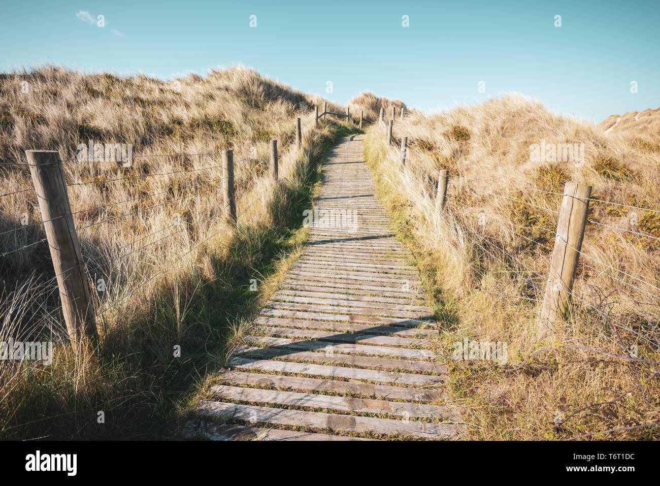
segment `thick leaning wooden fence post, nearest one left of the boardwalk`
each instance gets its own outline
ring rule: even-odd
[[[98,344],[94,302],[71,215],[64,168],[56,151],[25,152],[39,201],[50,256],[57,277],[62,313],[76,352]]]

